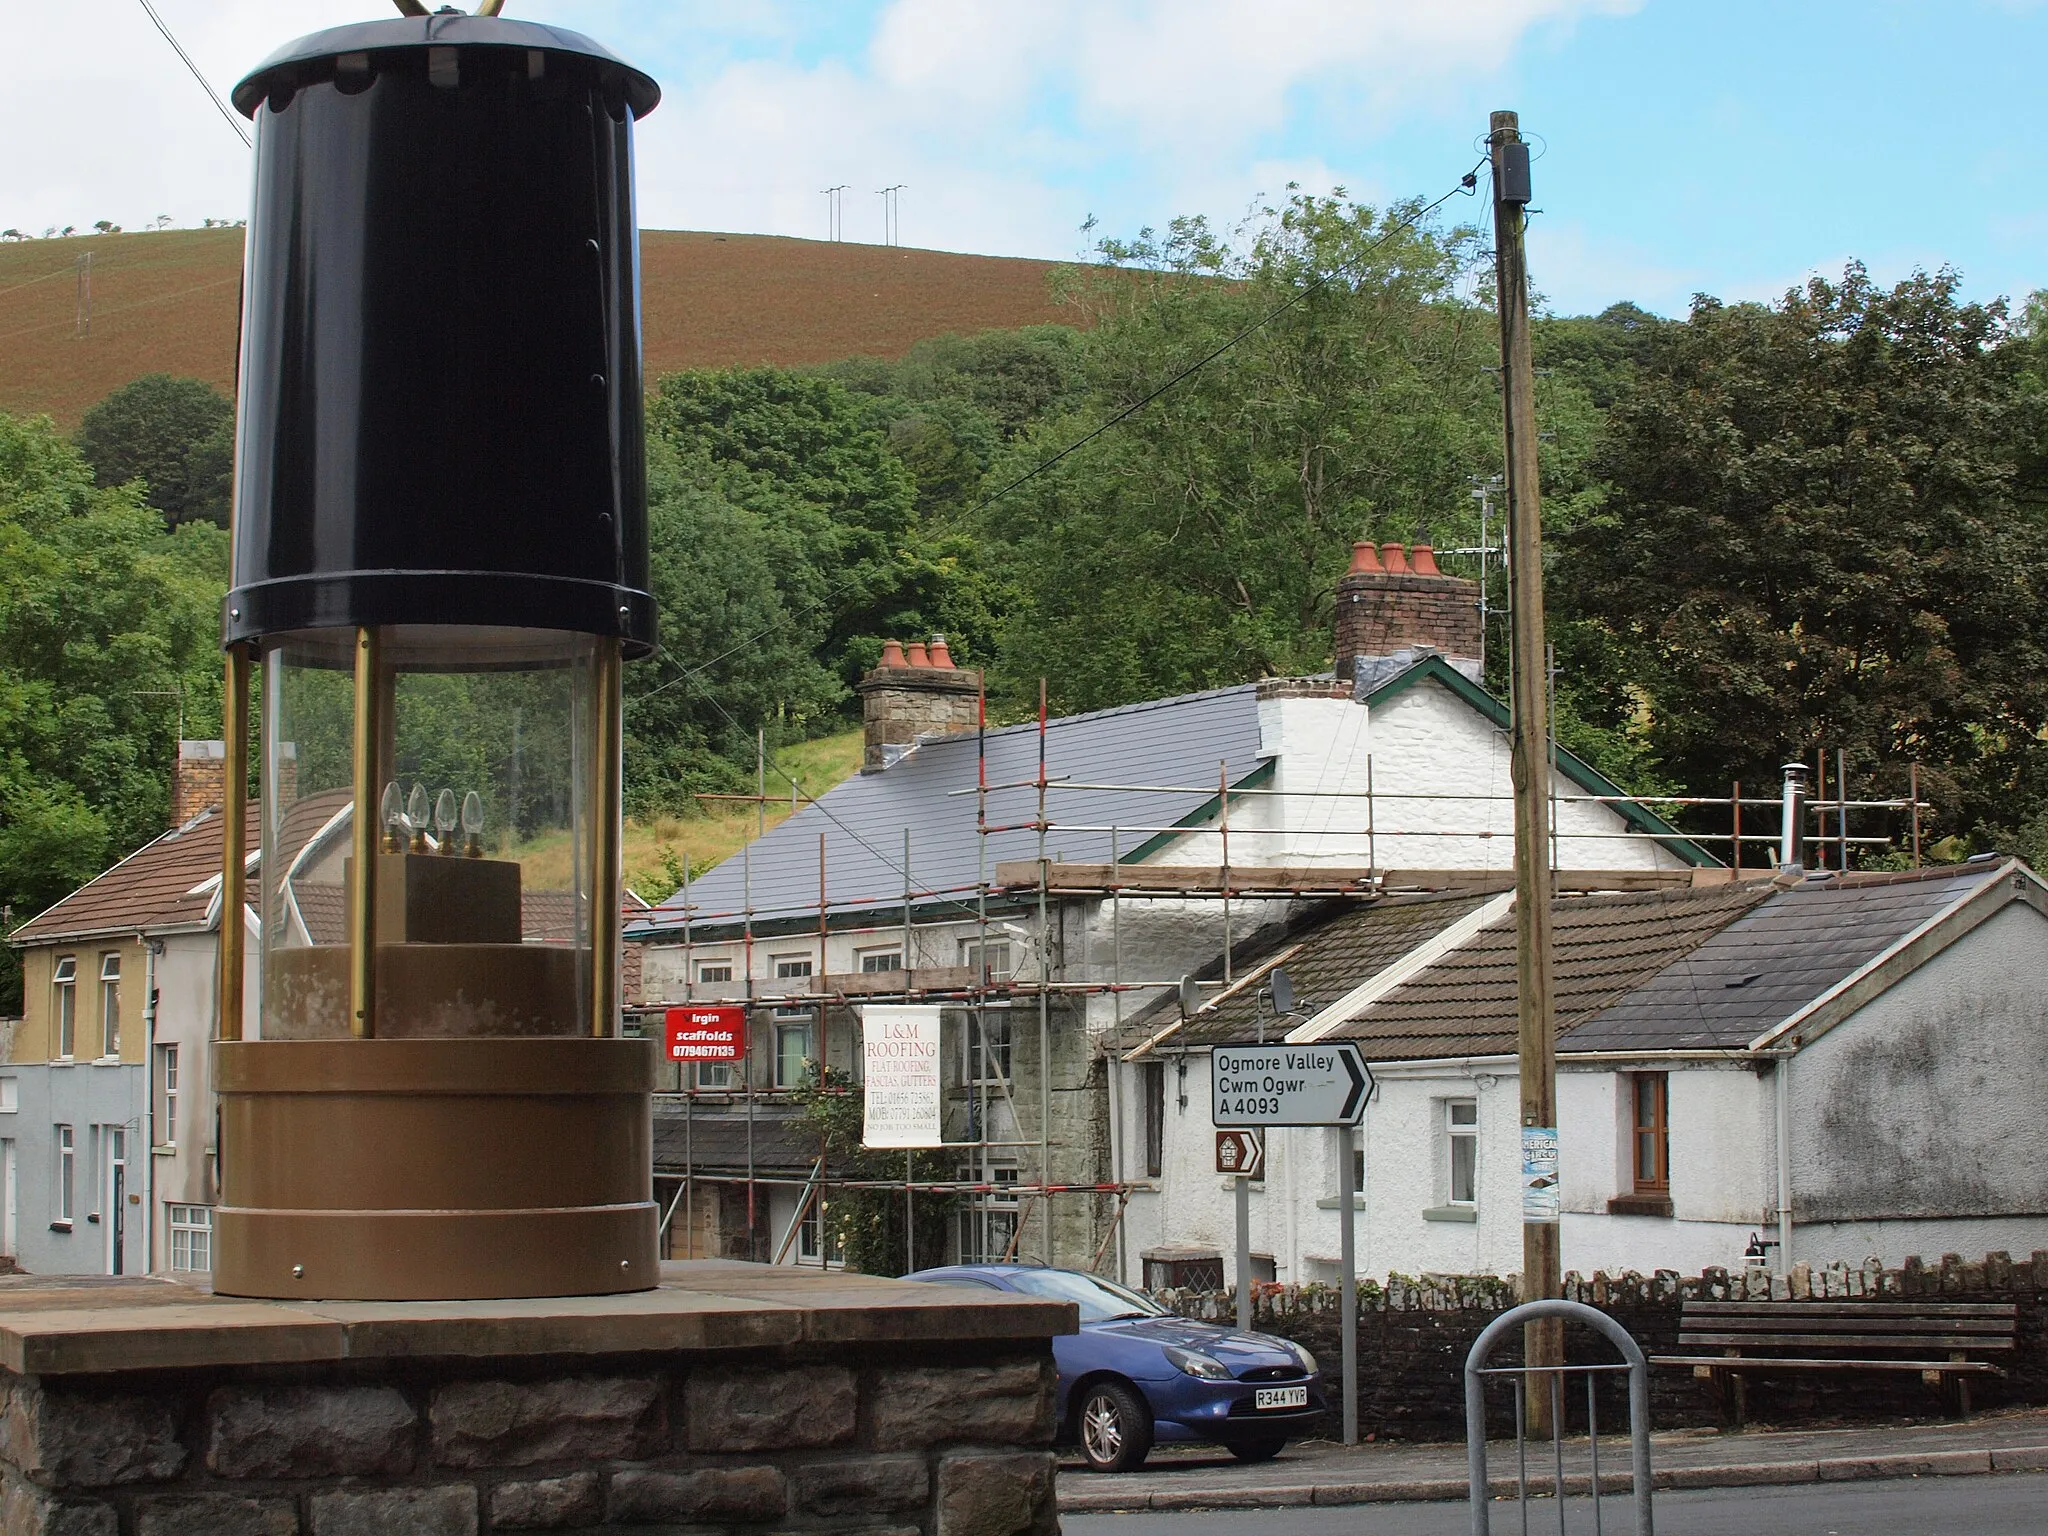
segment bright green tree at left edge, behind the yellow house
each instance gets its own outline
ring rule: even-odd
[[[178,723],[219,729],[227,535],[166,530],[47,418],[0,416],[0,903],[25,922],[170,815]],[[0,1012],[20,1008],[12,950]]]

